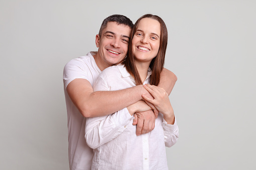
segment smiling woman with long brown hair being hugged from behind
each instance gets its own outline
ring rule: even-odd
[[[105,69],[94,90],[112,91],[144,84],[154,99],[142,96],[148,105],[140,101],[112,115],[87,118],[86,140],[94,148],[92,169],[168,169],[165,146],[175,144],[179,136],[168,95],[157,87],[167,46],[166,26],[158,16],[144,15],[135,23],[130,37],[127,58],[122,64]],[[133,114],[152,108],[160,112],[155,128],[136,136]]]

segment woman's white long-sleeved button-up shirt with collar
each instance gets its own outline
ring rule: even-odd
[[[149,83],[149,69],[145,83]],[[105,69],[94,84],[95,91],[114,91],[135,86],[133,77],[119,64]],[[118,104],[118,103],[117,103]],[[168,169],[165,146],[179,137],[176,120],[167,124],[159,113],[155,128],[136,136],[133,116],[127,108],[111,115],[87,118],[86,141],[94,149],[92,169]]]

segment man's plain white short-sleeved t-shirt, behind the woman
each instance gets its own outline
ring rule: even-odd
[[[91,169],[93,149],[90,148],[84,139],[84,128],[86,118],[84,118],[67,94],[67,85],[76,78],[87,79],[91,85],[98,78],[101,70],[97,66],[93,55],[90,52],[86,56],[69,61],[63,72],[64,94],[67,107],[67,126],[68,126],[68,158],[71,170]]]

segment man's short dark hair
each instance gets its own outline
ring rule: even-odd
[[[99,31],[99,36],[101,37],[102,35],[102,31],[107,27],[107,24],[109,22],[117,22],[117,24],[123,24],[125,26],[129,26],[131,29],[133,27],[132,21],[130,19],[128,19],[127,17],[123,16],[123,15],[112,15],[109,16],[108,18],[106,18],[101,25],[100,31]]]

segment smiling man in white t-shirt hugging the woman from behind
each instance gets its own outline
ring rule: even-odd
[[[73,59],[66,64],[63,73],[64,93],[68,115],[68,153],[70,169],[90,169],[93,150],[84,139],[86,118],[108,115],[121,110],[149,95],[142,85],[119,91],[93,91],[93,84],[101,71],[121,62],[128,51],[132,22],[125,16],[106,18],[96,36],[98,52]],[[176,76],[164,69],[159,86],[169,94]],[[157,112],[157,111],[156,111]],[[118,114],[125,114],[121,111]],[[147,133],[154,128],[152,110],[137,113],[136,134]],[[135,116],[135,117],[136,117]]]

